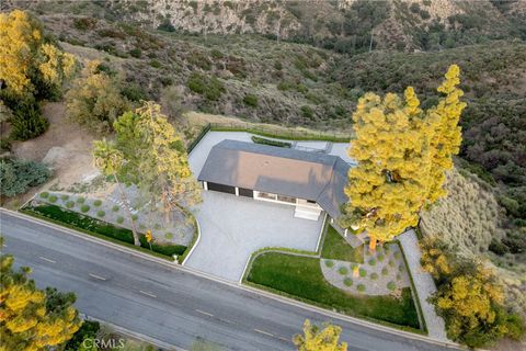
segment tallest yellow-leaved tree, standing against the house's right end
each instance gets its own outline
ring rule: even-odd
[[[403,99],[369,92],[358,100],[348,149],[357,166],[348,171],[350,201],[340,224],[367,230],[370,249],[415,226],[422,206],[445,194],[444,173],[461,139],[458,75],[458,66],[450,66],[438,88],[445,97],[428,111],[420,109],[411,87]]]

